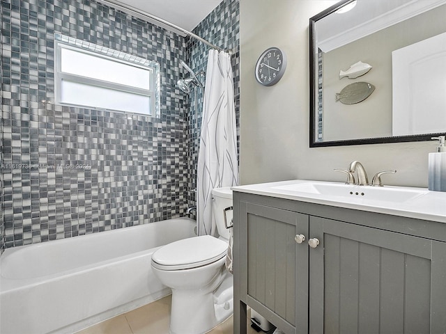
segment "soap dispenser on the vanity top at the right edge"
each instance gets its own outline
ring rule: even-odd
[[[437,152],[429,153],[429,190],[446,191],[445,136],[432,137],[440,141]]]

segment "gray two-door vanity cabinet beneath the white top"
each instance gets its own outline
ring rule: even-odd
[[[235,191],[234,228],[234,333],[247,305],[286,334],[446,333],[445,223]]]

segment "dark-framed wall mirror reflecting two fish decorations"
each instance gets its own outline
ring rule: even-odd
[[[309,19],[310,147],[445,134],[445,17],[446,0],[344,0]]]

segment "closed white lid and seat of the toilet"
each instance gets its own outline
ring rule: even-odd
[[[152,264],[163,270],[201,267],[220,260],[226,255],[227,248],[225,241],[210,235],[182,239],[156,250]]]

